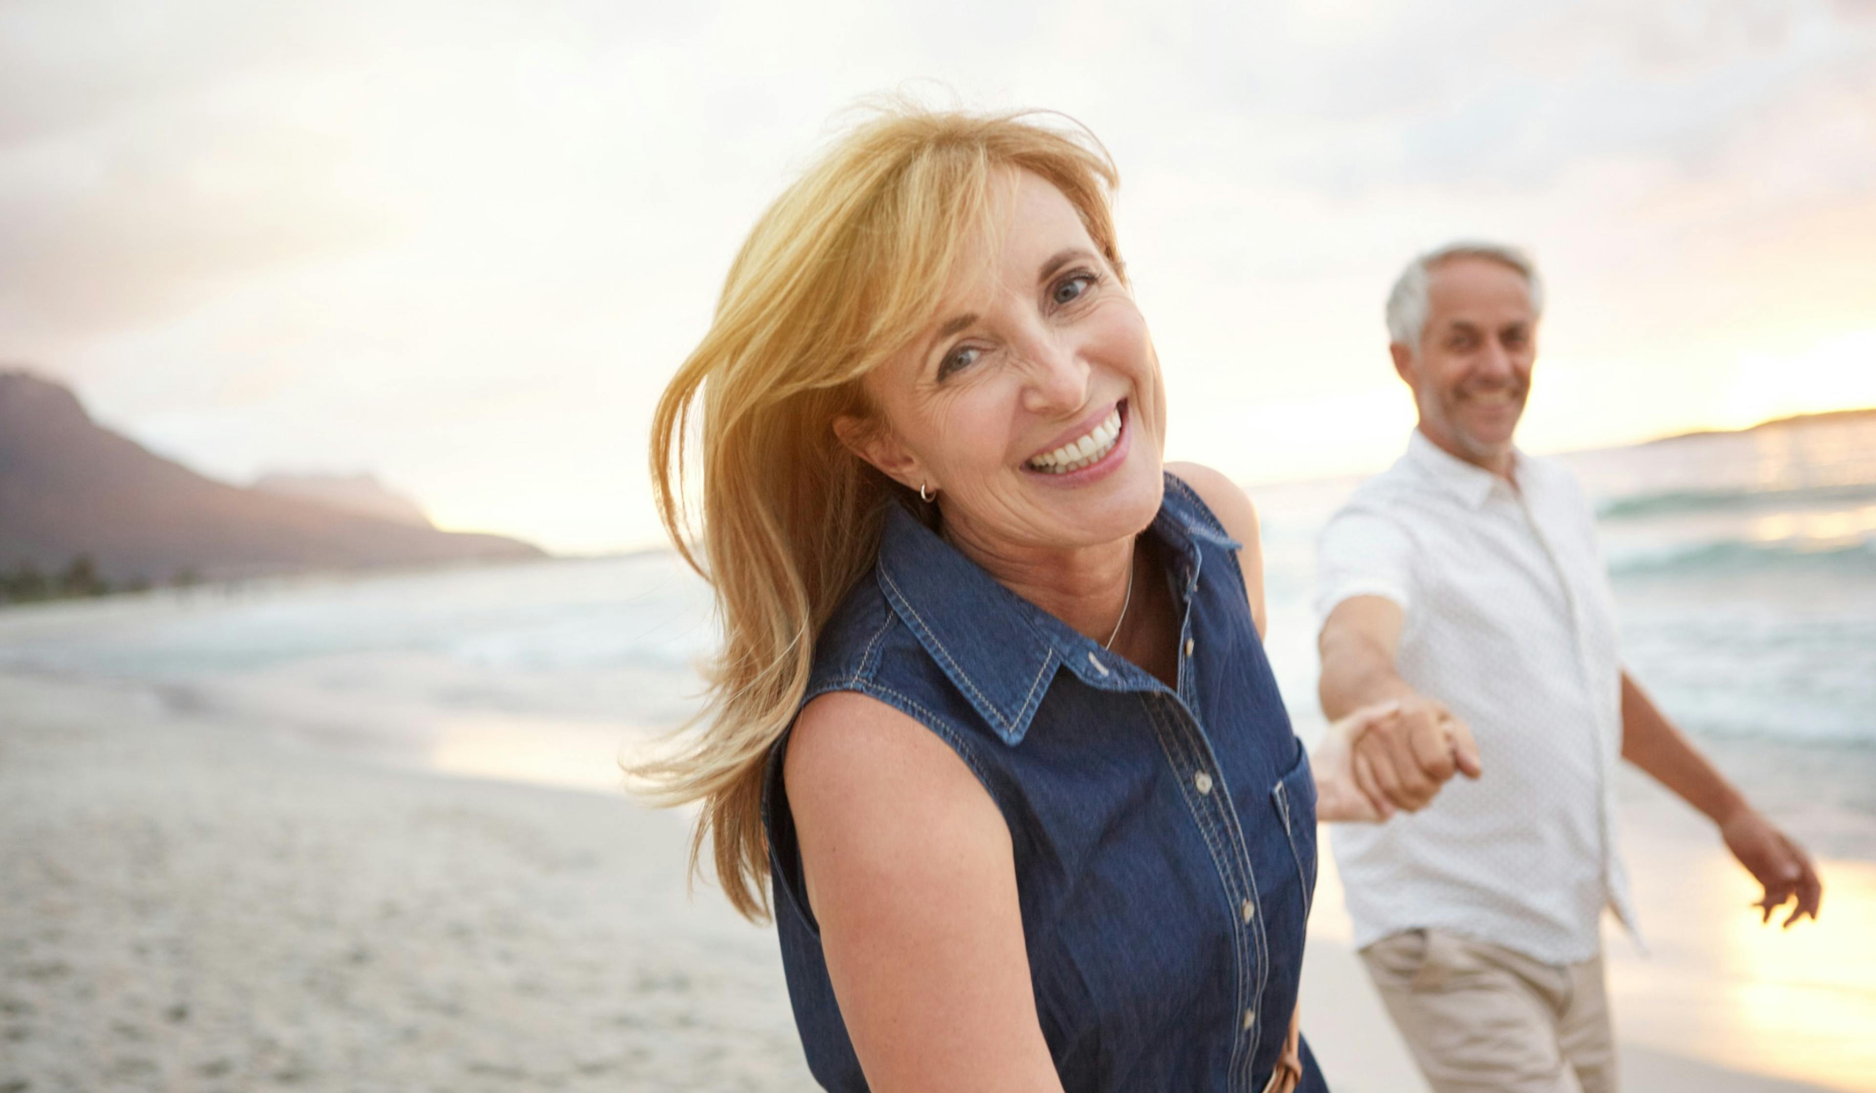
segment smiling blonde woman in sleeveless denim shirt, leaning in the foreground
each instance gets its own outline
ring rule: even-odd
[[[705,729],[642,774],[704,802],[737,909],[773,883],[829,1089],[1321,1089],[1294,1024],[1319,795],[1422,802],[1366,767],[1388,711],[1311,778],[1251,504],[1161,467],[1112,186],[1022,116],[882,116],[767,210],[657,411],[698,564],[702,401],[724,649]]]

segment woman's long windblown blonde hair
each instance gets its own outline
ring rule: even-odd
[[[876,422],[861,379],[930,324],[1007,169],[1060,189],[1122,270],[1109,204],[1118,176],[1086,129],[891,103],[756,221],[709,332],[658,399],[658,516],[715,591],[722,649],[679,746],[628,771],[658,804],[702,801],[692,876],[709,842],[724,894],[749,919],[769,913],[769,750],[807,694],[814,636],[872,568],[884,506],[902,491],[840,444],[833,422]],[[702,514],[685,501],[692,412]]]

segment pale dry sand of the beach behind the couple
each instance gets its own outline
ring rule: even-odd
[[[814,1087],[773,934],[685,892],[683,816],[371,763],[133,686],[0,675],[0,711],[8,1093]],[[1306,1029],[1338,1091],[1418,1091],[1334,889]],[[1634,1012],[1621,945],[1630,1089],[1859,1087],[1649,1042],[1673,1037]]]

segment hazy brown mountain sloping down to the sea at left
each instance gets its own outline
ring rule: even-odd
[[[420,512],[418,523],[356,508],[330,491],[313,501],[204,478],[98,426],[64,386],[0,371],[0,570],[54,572],[88,555],[124,583],[544,557],[505,536],[437,531]]]

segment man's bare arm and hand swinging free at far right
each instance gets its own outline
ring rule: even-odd
[[[1668,724],[1636,681],[1623,673],[1623,759],[1647,771],[1720,829],[1720,838],[1765,887],[1763,921],[1786,900],[1797,900],[1784,924],[1799,915],[1818,917],[1823,885],[1803,847],[1771,825],[1705,756]]]

